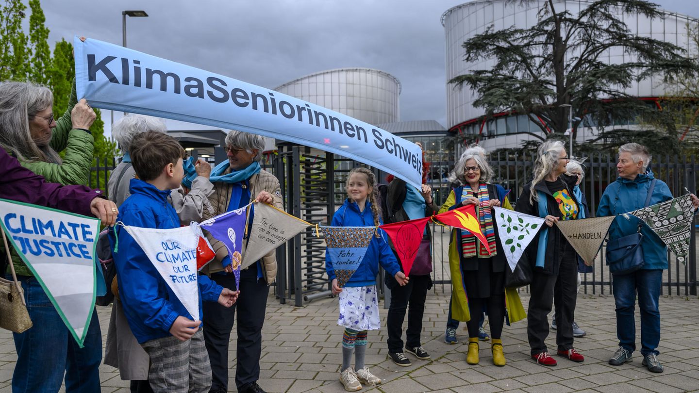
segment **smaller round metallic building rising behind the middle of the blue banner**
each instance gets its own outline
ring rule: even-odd
[[[369,124],[398,121],[401,83],[383,71],[323,71],[284,83],[275,90]]]

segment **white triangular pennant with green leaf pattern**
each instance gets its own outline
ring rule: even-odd
[[[524,249],[541,229],[544,219],[497,206],[493,206],[493,211],[498,224],[500,244],[505,250],[507,264],[514,272]]]

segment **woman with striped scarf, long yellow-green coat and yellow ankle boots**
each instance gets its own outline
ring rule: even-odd
[[[439,213],[468,204],[475,205],[483,234],[491,250],[470,232],[454,229],[449,243],[449,269],[452,272],[452,317],[467,321],[468,364],[478,364],[478,328],[483,306],[487,306],[492,337],[493,364],[505,365],[501,334],[505,322],[505,266],[507,259],[498,239],[493,206],[512,209],[505,189],[490,184],[493,169],[485,150],[470,145],[454,166],[449,180],[457,186],[449,192]],[[464,291],[465,290],[465,291]],[[517,297],[516,292],[512,292]],[[508,294],[508,296],[510,296]],[[514,299],[512,299],[514,300]],[[517,298],[519,300],[519,298]],[[514,301],[519,303],[519,301]],[[520,304],[521,307],[521,304]],[[472,317],[473,316],[473,317]]]

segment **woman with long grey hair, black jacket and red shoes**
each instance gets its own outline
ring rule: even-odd
[[[526,248],[519,263],[533,267],[531,300],[527,312],[527,335],[531,357],[537,364],[556,366],[545,340],[549,335],[548,317],[556,303],[556,343],[558,355],[573,362],[584,357],[572,347],[572,322],[577,300],[577,254],[554,224],[583,216],[574,192],[576,176],[565,174],[570,161],[561,141],[546,141],[534,162],[533,180],[524,185],[515,210],[545,219],[549,227],[540,231]]]

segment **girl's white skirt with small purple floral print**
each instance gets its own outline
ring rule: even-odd
[[[381,328],[376,285],[344,287],[340,292],[338,324],[356,331]]]

